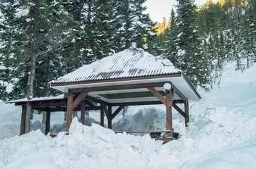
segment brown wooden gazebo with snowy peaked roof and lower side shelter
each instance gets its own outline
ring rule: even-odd
[[[166,83],[170,84],[170,89],[163,88]],[[66,97],[35,101],[32,108],[47,112],[67,111],[66,132],[69,131],[74,110],[81,111],[82,123],[86,109],[101,110],[100,124],[104,125],[105,113],[107,127],[111,129],[112,119],[124,106],[164,104],[167,134],[158,139],[165,142],[173,139],[172,107],[185,118],[187,125],[189,101],[201,99],[182,70],[166,59],[137,48],[125,49],[90,65],[83,65],[53,80],[50,85],[64,92]],[[25,103],[16,102],[16,105]],[[98,103],[98,106],[93,103]],[[184,111],[179,104],[184,104]],[[115,112],[112,112],[113,106],[118,107]]]

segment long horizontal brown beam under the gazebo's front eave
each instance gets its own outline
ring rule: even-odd
[[[142,84],[122,84],[102,87],[83,87],[71,89],[73,93],[81,92],[97,92],[97,91],[108,91],[108,90],[120,90],[120,89],[140,89],[146,87],[163,87],[165,82],[154,82],[154,83],[142,83]]]

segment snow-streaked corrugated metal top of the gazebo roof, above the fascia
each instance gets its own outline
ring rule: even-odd
[[[51,83],[169,75],[181,72],[182,70],[175,68],[173,63],[167,59],[153,56],[143,49],[129,48],[90,65],[83,65]]]

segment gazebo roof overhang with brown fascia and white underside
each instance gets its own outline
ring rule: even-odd
[[[64,93],[67,93],[69,89],[90,90],[88,96],[109,104],[116,104],[158,101],[156,96],[153,96],[146,87],[134,87],[134,84],[152,84],[158,92],[165,96],[165,89],[163,89],[165,82],[173,84],[189,101],[199,101],[201,99],[183,73],[88,82],[51,83],[51,87]],[[120,86],[120,89],[118,86]],[[126,87],[122,88],[123,86]],[[174,100],[182,99],[175,94]]]

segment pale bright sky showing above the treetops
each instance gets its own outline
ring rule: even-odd
[[[207,0],[195,0],[197,6],[203,5]],[[172,11],[172,6],[176,5],[176,0],[147,0],[144,5],[147,6],[146,13],[149,13],[151,20],[153,22],[162,23],[163,17],[169,19],[170,11]],[[173,6],[173,8],[175,8]]]

